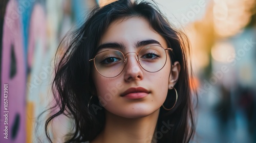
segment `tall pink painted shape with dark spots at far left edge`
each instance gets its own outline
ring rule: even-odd
[[[6,7],[3,26],[2,75],[1,75],[1,131],[0,142],[25,142],[26,117],[26,65],[18,5],[14,0]],[[8,84],[8,108],[4,108],[4,84]],[[4,111],[9,111],[5,118]],[[7,121],[8,125],[4,122]],[[4,131],[4,129],[8,131]],[[5,133],[8,134],[5,134]],[[4,138],[8,135],[6,138]]]

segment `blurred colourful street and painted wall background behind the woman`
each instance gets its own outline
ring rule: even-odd
[[[191,43],[191,80],[198,91],[196,137],[191,142],[256,142],[256,0],[155,1]],[[93,7],[111,2],[1,0],[0,142],[37,142],[35,121],[52,101],[58,44]],[[70,124],[61,116],[56,120],[51,136],[61,142]],[[36,130],[44,134],[44,127]]]

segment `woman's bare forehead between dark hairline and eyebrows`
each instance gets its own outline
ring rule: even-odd
[[[166,47],[166,41],[143,17],[129,17],[115,20],[102,35],[101,42],[118,42],[125,46],[135,46],[138,41],[153,39]]]

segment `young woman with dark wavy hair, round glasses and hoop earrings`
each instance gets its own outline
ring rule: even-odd
[[[187,39],[153,4],[123,0],[96,8],[63,42],[49,139],[48,126],[61,114],[74,121],[66,142],[193,138]]]

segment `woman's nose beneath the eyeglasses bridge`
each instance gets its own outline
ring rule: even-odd
[[[133,54],[132,54],[133,53]],[[127,55],[129,54],[129,55]],[[124,80],[127,82],[133,80],[142,80],[143,72],[139,64],[137,53],[131,52],[125,54]]]

